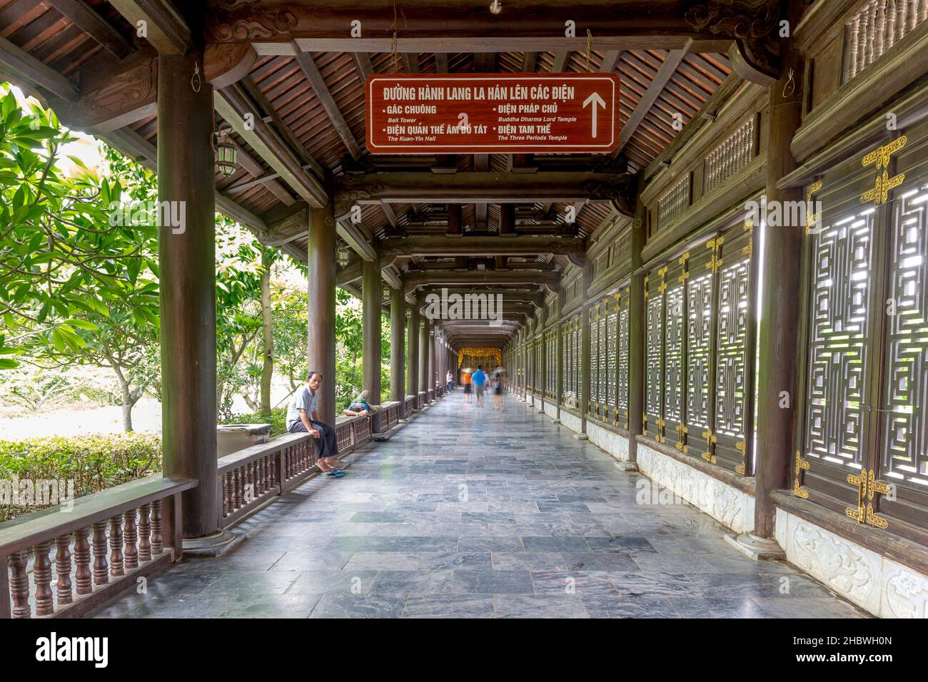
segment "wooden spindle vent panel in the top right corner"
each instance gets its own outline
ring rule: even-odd
[[[870,0],[844,25],[844,83],[928,19],[928,0]]]

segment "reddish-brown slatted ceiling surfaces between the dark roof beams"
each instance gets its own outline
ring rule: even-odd
[[[163,2],[161,0],[161,4]],[[121,0],[118,5],[126,4],[133,3]],[[406,9],[406,14],[409,13]],[[30,81],[27,77],[24,83],[21,71],[13,68],[18,64],[17,49],[64,76],[75,88],[84,83],[85,77],[92,77],[99,64],[114,60],[120,63],[137,56],[140,51],[151,50],[144,38],[135,35],[134,25],[104,0],[0,0],[0,37],[6,41],[0,44],[0,80],[8,78],[20,85],[34,85],[35,78]],[[696,52],[691,41],[676,49],[648,49],[638,46],[641,43],[638,40],[635,49],[612,49],[614,45],[608,41],[604,46],[598,45],[594,36],[583,51],[367,53],[302,52],[298,42],[294,42],[287,45],[288,49],[279,50],[290,54],[262,54],[267,50],[259,50],[251,70],[235,87],[240,87],[244,93],[242,97],[246,97],[250,106],[274,129],[305,173],[323,185],[345,174],[373,171],[508,173],[516,166],[527,172],[536,169],[537,173],[548,170],[586,172],[602,168],[634,173],[666,148],[732,71],[726,55]],[[619,153],[610,159],[582,154],[535,155],[534,158],[504,154],[402,157],[373,156],[367,152],[364,97],[367,75],[495,71],[618,74],[622,121]],[[33,72],[38,71],[29,71],[27,76]],[[91,75],[87,76],[88,73]],[[68,82],[59,84],[54,78],[52,80],[53,85],[66,91]],[[31,91],[41,95],[43,84],[40,82]],[[66,111],[58,113],[68,122]],[[216,113],[215,124],[217,130],[230,128],[229,122],[219,113]],[[292,184],[277,174],[248,140],[238,132],[232,132],[231,136],[239,148],[239,168],[229,177],[217,172],[217,201],[225,199],[226,204],[238,210],[233,212],[234,217],[261,235],[288,209],[299,208],[302,199]],[[154,108],[119,130],[107,131],[107,137],[122,141],[124,150],[150,165],[158,144]],[[220,203],[220,207],[224,204]],[[572,230],[569,234],[588,238],[615,215],[608,203],[578,202],[574,204],[574,225],[568,227],[569,208],[556,201],[520,203],[515,208],[515,225],[521,232],[533,230],[542,235],[559,234],[559,230],[567,228]],[[399,235],[444,236],[447,220],[447,206],[428,202],[381,202],[365,205],[362,210],[362,224],[371,240]],[[500,221],[500,207],[496,203],[476,202],[462,207],[461,225],[465,235],[495,234]],[[272,243],[296,257],[305,258],[304,231],[297,230]],[[566,256],[550,253],[539,253],[535,259],[528,260],[556,271],[562,271],[569,264]],[[512,259],[512,263],[519,266],[516,259]],[[396,260],[400,273],[451,265],[459,268],[461,263],[459,259],[432,255],[410,255]]]

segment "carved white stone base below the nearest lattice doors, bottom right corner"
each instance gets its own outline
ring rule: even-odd
[[[787,560],[864,611],[928,616],[928,576],[780,508],[776,538]]]

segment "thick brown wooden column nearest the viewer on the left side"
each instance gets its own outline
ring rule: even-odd
[[[164,475],[200,481],[183,494],[190,538],[214,534],[219,521],[213,88],[191,84],[202,63],[197,50],[158,58],[158,199],[183,216],[158,230],[161,440]]]

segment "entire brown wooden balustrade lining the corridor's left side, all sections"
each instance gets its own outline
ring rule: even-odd
[[[415,400],[406,397],[410,411]],[[388,428],[399,421],[399,405],[383,405]],[[343,456],[370,442],[371,418],[338,418],[335,432]],[[220,457],[220,528],[317,472],[308,433],[288,433]],[[181,518],[181,493],[196,485],[149,476],[81,497],[70,512],[53,507],[0,523],[0,618],[81,615],[178,560],[182,544],[174,520]]]

